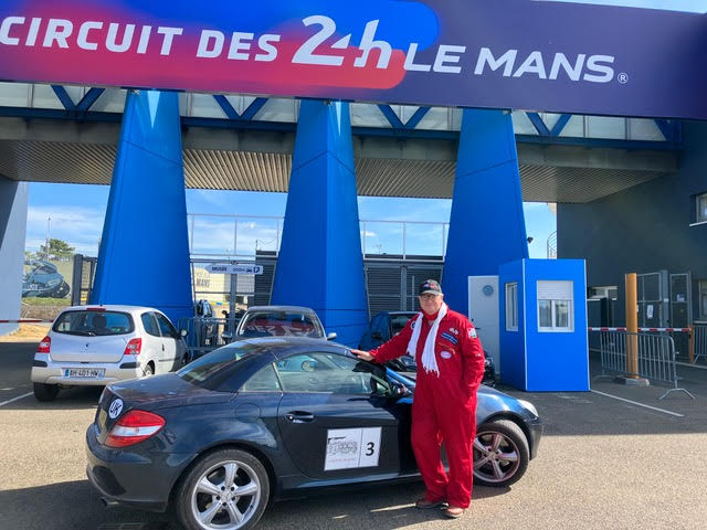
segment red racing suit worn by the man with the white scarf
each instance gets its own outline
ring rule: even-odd
[[[418,381],[412,403],[412,449],[426,487],[425,498],[467,508],[474,479],[472,446],[476,436],[476,391],[484,377],[484,350],[472,322],[447,309],[440,321],[434,353],[440,374],[426,372],[422,351],[436,314],[423,314],[415,351]],[[376,362],[404,356],[418,317],[400,333],[371,350]],[[440,455],[444,442],[450,474]]]

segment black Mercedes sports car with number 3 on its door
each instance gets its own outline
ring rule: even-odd
[[[165,511],[188,529],[254,526],[271,498],[414,479],[414,380],[306,338],[239,341],[177,373],[105,389],[86,432],[106,502]],[[476,484],[507,486],[535,456],[535,407],[478,393]]]

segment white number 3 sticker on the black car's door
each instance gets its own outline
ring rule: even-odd
[[[380,427],[330,428],[327,431],[324,470],[377,467],[380,455]]]

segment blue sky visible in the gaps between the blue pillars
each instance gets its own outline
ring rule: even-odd
[[[76,252],[95,256],[108,203],[107,186],[30,183],[25,248],[36,252],[49,237],[66,241]],[[192,253],[231,254],[234,220],[217,215],[285,214],[285,193],[187,190],[187,212],[194,220]],[[408,221],[409,254],[440,254],[443,226],[449,223],[451,200],[359,198],[359,219],[366,221],[366,252],[402,253],[402,223]],[[530,257],[546,257],[548,236],[556,230],[556,218],[546,203],[525,203],[526,230],[532,242]],[[386,221],[386,222],[381,222]],[[414,224],[415,221],[440,223]],[[238,250],[252,253],[274,250],[277,220],[240,219]],[[257,240],[257,242],[255,241]]]

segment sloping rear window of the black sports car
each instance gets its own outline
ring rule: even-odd
[[[177,375],[194,384],[209,385],[211,380],[221,382],[223,378],[230,377],[234,370],[249,364],[249,361],[270,351],[271,348],[271,343],[254,343],[247,340],[234,342],[200,357],[179,370]]]

